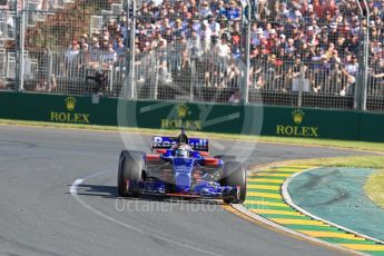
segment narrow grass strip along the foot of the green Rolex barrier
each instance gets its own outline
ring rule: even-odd
[[[0,119],[0,124],[4,125],[22,125],[22,126],[39,126],[39,127],[57,127],[67,129],[85,129],[98,131],[125,131],[125,132],[140,132],[148,135],[175,135],[179,130],[165,129],[147,129],[147,128],[119,128],[112,126],[90,126],[90,125],[72,125],[72,124],[57,124],[57,122],[40,122],[40,121],[21,121],[21,120],[4,120]],[[357,150],[371,150],[384,152],[384,144],[366,142],[366,141],[347,141],[336,139],[309,139],[309,138],[288,138],[288,137],[273,137],[273,136],[250,136],[250,135],[229,135],[218,132],[198,132],[188,131],[190,136],[209,137],[210,139],[236,139],[246,141],[274,142],[274,144],[292,144],[301,146],[324,146],[337,147]]]

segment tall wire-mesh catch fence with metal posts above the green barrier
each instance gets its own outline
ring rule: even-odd
[[[0,89],[384,110],[381,1],[6,2]]]

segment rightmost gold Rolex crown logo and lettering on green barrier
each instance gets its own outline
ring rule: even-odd
[[[319,137],[318,127],[303,126],[305,112],[302,109],[295,109],[292,112],[294,125],[277,125],[276,135],[289,137]]]

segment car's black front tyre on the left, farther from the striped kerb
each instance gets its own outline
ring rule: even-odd
[[[144,152],[122,150],[117,175],[117,193],[120,197],[139,197],[138,181],[142,179]]]

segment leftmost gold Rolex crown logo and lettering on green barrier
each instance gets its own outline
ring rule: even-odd
[[[63,101],[66,111],[51,111],[50,121],[89,124],[89,114],[73,112],[77,104],[75,97],[67,97]]]

